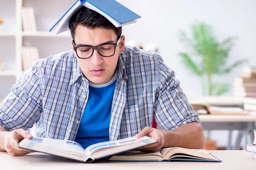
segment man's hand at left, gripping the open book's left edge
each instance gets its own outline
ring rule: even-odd
[[[34,152],[32,150],[26,150],[20,148],[18,146],[18,142],[20,142],[24,138],[32,139],[33,136],[30,135],[23,129],[13,130],[11,132],[1,132],[4,139],[4,150],[8,152],[12,156],[23,156],[28,153]]]

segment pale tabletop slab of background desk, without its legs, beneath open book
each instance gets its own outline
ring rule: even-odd
[[[201,122],[256,122],[256,116],[246,115],[199,115]]]

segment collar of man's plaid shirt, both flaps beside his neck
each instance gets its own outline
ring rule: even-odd
[[[119,78],[124,77],[125,79],[128,79],[126,70],[125,70],[125,64],[122,58],[125,58],[125,54],[122,52],[119,55],[118,58],[118,72],[119,72]],[[83,72],[79,66],[79,63],[76,59],[76,57],[73,55],[73,68],[72,68],[72,73],[71,73],[71,79],[70,79],[70,85],[72,85],[76,80],[81,76],[83,77]]]

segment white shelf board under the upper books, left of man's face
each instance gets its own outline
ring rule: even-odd
[[[61,34],[53,34],[52,32],[47,31],[36,31],[36,32],[22,32],[23,37],[67,37],[71,38],[70,32],[64,32]]]

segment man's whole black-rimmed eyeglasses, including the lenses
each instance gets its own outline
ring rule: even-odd
[[[87,59],[93,55],[95,50],[98,51],[99,55],[102,57],[111,57],[116,52],[116,46],[121,42],[121,37],[119,37],[116,43],[105,43],[97,46],[91,45],[79,45],[75,46],[75,41],[73,40],[73,48],[76,51],[76,55],[80,59]]]

